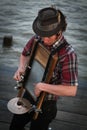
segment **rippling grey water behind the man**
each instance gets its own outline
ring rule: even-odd
[[[86,0],[0,0],[0,64],[17,67],[20,53],[34,34],[32,22],[38,10],[54,5],[67,17],[65,37],[72,44],[79,64],[79,78],[87,80],[87,1]],[[3,48],[3,37],[13,36],[13,46]]]

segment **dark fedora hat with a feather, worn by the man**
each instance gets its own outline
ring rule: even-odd
[[[52,36],[61,29],[60,17],[60,13],[52,7],[41,9],[33,22],[32,28],[41,37]]]

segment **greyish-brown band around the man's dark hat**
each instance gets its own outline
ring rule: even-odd
[[[53,23],[53,24],[46,25],[46,26],[41,26],[39,22],[37,23],[37,27],[42,31],[52,31],[52,30],[56,29],[57,26],[58,26],[58,23]]]

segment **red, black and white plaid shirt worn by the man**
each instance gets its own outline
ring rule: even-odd
[[[35,37],[26,44],[22,54],[27,56],[31,52],[32,43]],[[62,36],[62,38],[57,41],[53,46],[46,46],[50,51],[53,48],[60,46],[65,43],[66,40]],[[58,54],[58,62],[53,72],[53,76],[51,78],[50,84],[62,84],[62,85],[78,85],[78,68],[77,68],[77,55],[70,44],[66,42],[65,47],[61,48]],[[57,99],[56,95],[47,94],[46,100],[55,100]]]

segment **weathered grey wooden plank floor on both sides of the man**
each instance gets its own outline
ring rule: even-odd
[[[0,130],[9,130],[12,113],[8,101],[15,97],[13,74],[16,68],[0,66]],[[56,119],[50,124],[52,130],[87,130],[87,84],[79,86],[75,97],[60,97]],[[26,130],[29,130],[28,125]]]

